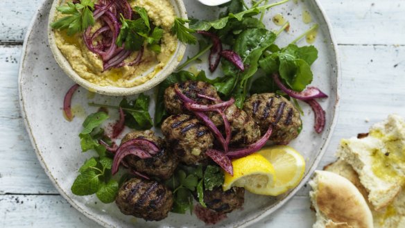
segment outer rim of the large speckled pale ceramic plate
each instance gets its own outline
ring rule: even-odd
[[[322,6],[320,6],[320,0],[312,0],[314,4],[314,6],[316,6],[318,8],[318,10],[321,12],[323,19],[325,20],[325,24],[326,24],[326,28],[328,30],[328,35],[329,38],[331,40],[331,46],[332,49],[334,50],[334,58],[336,60],[336,103],[334,106],[335,112],[334,112],[334,117],[331,121],[331,125],[329,128],[329,133],[322,145],[322,149],[318,152],[318,155],[316,156],[315,161],[313,161],[313,164],[311,165],[311,167],[308,170],[307,175],[304,176],[304,178],[302,179],[302,181],[300,182],[300,184],[298,184],[297,187],[295,187],[291,192],[289,192],[282,200],[280,200],[277,204],[273,205],[273,207],[271,207],[270,209],[264,211],[264,213],[258,213],[257,216],[251,218],[250,220],[245,220],[243,223],[241,223],[241,225],[239,225],[238,227],[251,227],[255,222],[264,219],[266,216],[269,216],[271,213],[277,211],[277,209],[281,208],[284,204],[286,204],[286,202],[288,202],[288,200],[291,200],[291,198],[293,198],[293,196],[295,195],[295,193],[297,193],[300,188],[302,188],[302,186],[304,186],[304,184],[306,184],[309,179],[311,178],[313,172],[316,170],[316,168],[318,167],[318,164],[320,162],[320,160],[322,159],[323,155],[325,154],[325,151],[327,150],[327,146],[329,144],[329,141],[331,139],[331,135],[334,132],[336,123],[337,123],[337,119],[338,119],[338,110],[339,110],[339,105],[340,105],[340,94],[341,94],[341,64],[340,64],[340,58],[338,55],[338,45],[336,44],[336,40],[334,37],[334,33],[332,32],[331,29],[331,23],[329,21],[329,19],[326,17],[326,13],[325,10],[322,8]],[[40,8],[44,7],[44,4],[46,3],[46,1],[44,1],[42,3],[42,6],[40,6]],[[95,222],[97,222],[99,225],[102,225],[103,227],[114,227],[113,225],[111,225],[110,223],[105,222],[102,218],[99,218],[101,216],[95,216],[92,213],[88,213],[87,211],[85,211],[83,208],[81,208],[80,206],[78,206],[78,204],[76,204],[76,202],[74,202],[74,200],[72,200],[67,193],[65,193],[63,191],[63,189],[59,186],[58,181],[55,179],[55,177],[53,177],[52,173],[49,171],[48,166],[46,166],[46,164],[44,163],[44,160],[42,158],[41,152],[38,149],[37,143],[33,137],[33,133],[31,130],[31,123],[28,121],[27,116],[26,116],[26,112],[25,112],[25,105],[24,105],[24,99],[22,96],[22,89],[21,89],[21,78],[22,78],[22,67],[24,64],[24,60],[26,58],[26,46],[28,43],[28,38],[31,35],[31,31],[33,30],[33,26],[35,24],[35,21],[37,19],[37,15],[38,15],[39,10],[37,10],[37,12],[35,12],[35,15],[33,16],[33,19],[31,20],[31,23],[28,26],[28,29],[26,31],[26,36],[24,38],[24,44],[23,44],[23,48],[21,50],[21,61],[19,64],[19,73],[18,73],[18,91],[19,91],[19,105],[20,105],[20,109],[21,109],[21,116],[24,119],[24,125],[26,127],[26,130],[28,132],[28,136],[29,139],[31,141],[31,144],[33,145],[33,148],[35,150],[35,154],[37,155],[37,159],[40,161],[40,164],[42,166],[42,168],[44,168],[44,171],[46,173],[46,175],[48,175],[49,179],[51,179],[51,182],[53,184],[53,186],[55,186],[55,188],[58,190],[58,192],[60,193],[60,195],[62,195],[62,197],[67,200],[67,202],[69,202],[69,204],[71,204],[72,207],[74,207],[75,209],[77,209],[80,213],[83,213],[83,215],[85,215],[87,218],[94,220]]]

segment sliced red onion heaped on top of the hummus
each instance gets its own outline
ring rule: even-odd
[[[101,56],[103,60],[103,70],[112,67],[132,66],[139,64],[144,50],[138,52],[135,60],[124,62],[131,54],[131,51],[117,46],[117,37],[121,28],[119,17],[122,14],[125,19],[132,19],[132,8],[126,0],[101,0],[94,5],[93,17],[96,21],[102,21],[103,26],[98,28],[93,34],[92,27],[83,33],[83,40],[87,49]],[[101,37],[97,42],[97,37]],[[94,42],[97,44],[94,45]]]

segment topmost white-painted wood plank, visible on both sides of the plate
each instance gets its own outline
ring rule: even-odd
[[[42,1],[0,1],[0,42],[22,42],[26,27]],[[338,44],[405,44],[402,0],[320,2]]]

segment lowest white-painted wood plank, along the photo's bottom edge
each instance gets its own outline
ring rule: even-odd
[[[309,198],[295,197],[255,227],[311,227],[314,215]],[[0,227],[100,227],[60,195],[0,195]],[[187,215],[185,215],[187,216]]]

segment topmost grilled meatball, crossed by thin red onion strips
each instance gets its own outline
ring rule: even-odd
[[[184,105],[180,98],[178,98],[174,89],[175,85],[171,85],[164,91],[164,107],[170,114],[189,113],[184,109]],[[201,105],[211,105],[214,103],[212,100],[206,98],[200,98],[197,94],[210,96],[212,98],[220,99],[216,93],[216,89],[213,85],[200,81],[187,81],[178,84],[180,91],[188,98],[195,100]]]

